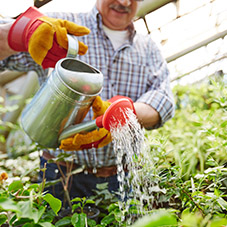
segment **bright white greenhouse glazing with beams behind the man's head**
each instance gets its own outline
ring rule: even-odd
[[[0,16],[16,17],[29,6],[42,12],[89,11],[95,0],[0,0]],[[12,7],[13,6],[13,7]],[[135,27],[159,45],[173,86],[227,74],[226,0],[144,0]]]

